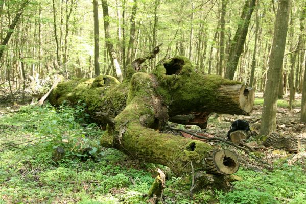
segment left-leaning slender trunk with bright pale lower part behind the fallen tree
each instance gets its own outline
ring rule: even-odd
[[[109,14],[108,14],[108,4],[106,0],[101,0],[102,2],[102,9],[103,9],[103,21],[104,21],[104,33],[105,33],[105,40],[108,49],[108,53],[111,59],[111,63],[116,71],[117,78],[120,82],[123,80],[122,72],[116,57],[116,52],[111,42],[111,35],[109,32]]]

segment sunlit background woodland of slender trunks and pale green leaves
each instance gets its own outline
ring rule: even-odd
[[[60,71],[121,81],[126,65],[162,44],[148,71],[184,55],[199,71],[264,91],[279,2],[0,0],[0,80],[18,89],[29,76]],[[305,75],[305,7],[300,0],[290,7],[278,89],[278,97],[290,90],[290,101]]]

